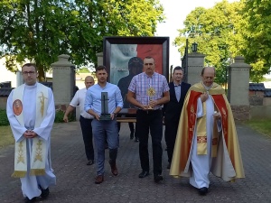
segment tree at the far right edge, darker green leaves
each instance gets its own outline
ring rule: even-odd
[[[271,66],[271,4],[266,0],[243,0],[242,15],[245,19],[241,33],[245,41],[242,50],[246,61],[252,66],[251,79],[260,82]]]

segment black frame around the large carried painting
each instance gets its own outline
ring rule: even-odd
[[[112,44],[158,44],[162,46],[162,74],[169,80],[169,37],[104,37],[103,40],[103,64],[107,67],[108,82],[110,81],[110,59]],[[142,59],[144,60],[144,59]],[[114,82],[112,82],[114,83]],[[116,82],[114,83],[116,84]],[[117,84],[116,84],[117,85]]]

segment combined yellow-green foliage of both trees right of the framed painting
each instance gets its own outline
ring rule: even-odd
[[[189,47],[192,42],[199,44],[199,52],[206,55],[205,65],[216,67],[220,84],[226,81],[227,67],[238,55],[252,66],[250,79],[259,82],[271,66],[270,10],[266,0],[231,4],[223,0],[210,9],[197,7],[187,15],[174,44],[183,55],[188,34]]]

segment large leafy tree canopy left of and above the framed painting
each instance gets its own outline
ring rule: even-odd
[[[153,36],[163,12],[158,0],[2,0],[0,57],[10,70],[34,61],[42,79],[62,53],[78,66],[96,63],[104,36]]]

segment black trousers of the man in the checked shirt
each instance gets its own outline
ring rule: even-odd
[[[149,132],[152,137],[154,175],[162,173],[162,137],[163,137],[163,114],[162,110],[136,112],[136,134],[139,138],[139,157],[143,171],[150,171],[148,138]]]

